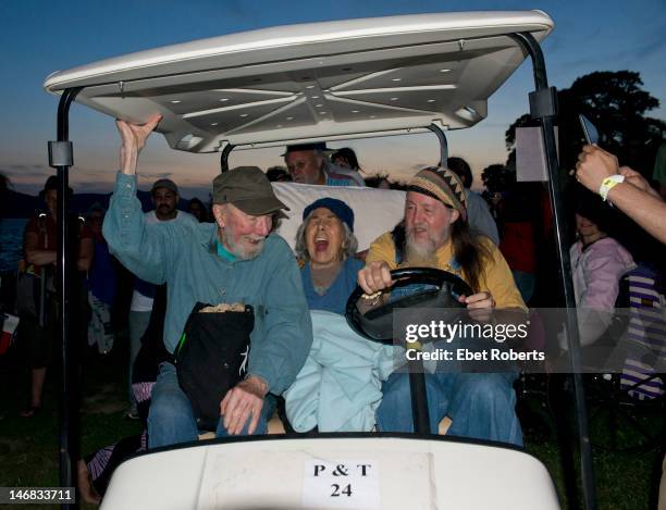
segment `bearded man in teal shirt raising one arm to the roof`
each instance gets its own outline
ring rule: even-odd
[[[147,225],[136,198],[136,166],[160,119],[153,115],[143,125],[116,121],[121,172],[104,237],[111,252],[133,273],[155,284],[166,283],[163,340],[170,352],[197,302],[252,307],[247,375],[223,396],[217,433],[266,433],[269,395],[281,395],[292,384],[312,343],[298,264],[288,245],[272,234],[278,215],[287,208],[259,169],[239,167],[213,182],[214,224]],[[149,447],[195,440],[198,432],[192,398],[181,389],[175,366],[162,363],[152,388]]]

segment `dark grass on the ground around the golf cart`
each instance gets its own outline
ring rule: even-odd
[[[87,361],[81,413],[81,444],[84,453],[112,444],[123,436],[140,432],[139,422],[124,418],[126,349],[126,344],[121,341],[116,344],[110,356],[103,359],[96,356]],[[17,386],[25,381],[17,374],[15,365],[9,369],[9,377],[5,378],[11,381],[11,384],[4,391],[4,398],[0,400],[0,413],[4,414],[4,419],[0,420],[0,486],[57,486],[59,433],[54,377],[47,380],[45,403],[39,414],[33,419],[23,419],[17,416],[22,402],[16,394]],[[527,450],[547,467],[564,501],[560,448],[552,437],[547,421],[533,412],[521,415],[521,420]],[[652,418],[648,416],[645,420],[650,426]],[[603,434],[604,431],[594,433]],[[595,441],[594,436],[592,440]],[[576,439],[571,439],[574,447],[576,443]],[[575,463],[578,468],[578,458],[575,459]],[[656,483],[657,467],[661,467],[657,451],[619,453],[595,449],[594,469],[599,508],[650,509],[650,494]],[[42,506],[42,508],[55,507]],[[84,505],[83,508],[92,507]]]

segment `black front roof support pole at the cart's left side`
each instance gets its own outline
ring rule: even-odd
[[[74,402],[78,401],[73,394],[73,374],[75,371],[70,365],[73,359],[73,344],[70,341],[70,316],[71,307],[71,276],[75,271],[75,260],[70,258],[66,249],[71,246],[70,238],[76,233],[71,232],[69,222],[70,196],[69,172],[73,164],[72,144],[70,137],[70,105],[81,88],[69,88],[60,97],[58,104],[58,141],[49,141],[49,165],[54,166],[58,173],[58,258],[55,287],[58,301],[60,303],[60,316],[58,321],[58,343],[61,347],[61,385],[60,385],[60,486],[74,486],[74,467],[77,460],[77,448],[75,438]],[[76,502],[63,502],[63,509],[78,508]]]

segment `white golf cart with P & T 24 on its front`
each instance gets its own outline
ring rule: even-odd
[[[446,162],[445,132],[482,121],[488,98],[530,55],[536,88],[530,95],[530,108],[542,125],[559,271],[568,275],[553,134],[555,90],[547,87],[539,46],[552,29],[552,20],[540,11],[351,20],[233,34],[58,72],[45,83],[48,91],[61,95],[58,140],[49,144],[50,164],[58,169],[60,191],[64,191],[73,163],[67,132],[74,100],[137,123],[159,112],[163,119],[157,130],[171,148],[220,152],[222,171],[227,170],[234,148],[429,130],[436,135],[441,161]],[[288,190],[297,185],[282,186]],[[298,219],[312,198],[298,200],[301,209],[293,207],[292,219]],[[62,221],[66,194],[60,194],[58,203],[63,304],[59,334],[63,373],[69,374],[73,371],[67,341],[71,306],[65,283],[72,262],[62,250],[72,235]],[[362,210],[368,201],[361,203],[356,207]],[[398,217],[400,209],[398,204]],[[374,231],[361,236],[360,250],[373,235],[395,224],[391,214],[370,220]],[[282,234],[291,240],[286,229]],[[563,276],[563,285],[567,306],[572,307],[568,276]],[[575,318],[568,333],[576,363]],[[72,485],[74,461],[70,458],[70,381],[63,377],[61,396],[63,486]],[[594,508],[579,383],[583,483],[587,507]],[[151,450],[115,471],[102,507],[559,508],[551,476],[539,460],[518,448],[430,434],[420,397],[419,391],[412,393],[417,401],[414,435],[237,437]]]

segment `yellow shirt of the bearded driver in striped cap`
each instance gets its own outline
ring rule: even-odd
[[[491,259],[485,261],[483,272],[479,277],[479,291],[490,293],[497,308],[522,308],[527,310],[514,282],[511,270],[509,270],[502,252],[490,239],[482,238],[481,242],[490,251]],[[467,282],[462,270],[452,265],[453,247],[451,240],[441,247],[435,256],[437,258],[437,269],[460,276]],[[380,236],[370,245],[370,251],[368,257],[366,257],[366,264],[380,260],[385,261],[392,270],[398,268],[395,261],[395,245],[390,232]],[[400,266],[404,265],[400,264]]]

